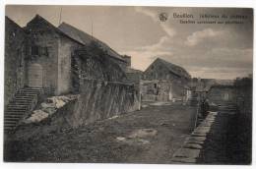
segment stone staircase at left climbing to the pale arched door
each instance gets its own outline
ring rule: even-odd
[[[4,131],[12,132],[20,120],[37,104],[37,98],[42,88],[25,87],[19,90],[10,103],[5,107]]]

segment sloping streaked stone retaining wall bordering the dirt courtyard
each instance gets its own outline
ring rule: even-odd
[[[133,85],[84,80],[74,111],[66,119],[72,127],[78,127],[138,110],[139,105]]]

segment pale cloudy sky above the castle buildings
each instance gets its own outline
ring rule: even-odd
[[[62,10],[61,10],[62,8]],[[60,11],[61,19],[60,19]],[[160,21],[160,14],[167,19]],[[173,14],[190,21],[214,21],[200,15],[219,15],[216,21],[242,24],[180,24]],[[161,58],[185,68],[192,77],[235,79],[252,74],[253,14],[251,9],[117,6],[6,6],[6,16],[25,27],[36,15],[54,26],[65,22],[92,33],[119,54],[130,55],[132,67],[146,70]],[[246,19],[222,18],[225,15]]]

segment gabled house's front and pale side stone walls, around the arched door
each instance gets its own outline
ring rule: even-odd
[[[51,94],[72,91],[71,57],[81,43],[68,37],[39,16],[27,25],[28,64],[42,67],[42,87]],[[29,70],[30,72],[30,70]]]

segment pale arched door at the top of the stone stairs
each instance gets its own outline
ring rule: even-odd
[[[28,69],[30,87],[42,87],[42,67],[40,64],[31,64]]]

